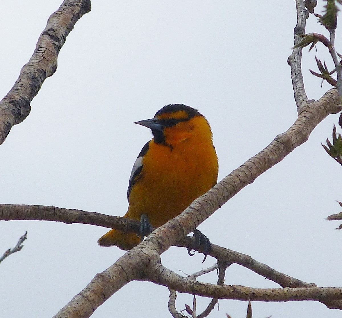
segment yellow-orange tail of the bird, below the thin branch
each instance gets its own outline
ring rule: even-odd
[[[128,217],[127,213],[123,216]],[[101,236],[98,241],[100,246],[117,246],[123,250],[128,250],[140,243],[140,237],[135,233],[123,233],[118,230],[110,230],[105,235]]]

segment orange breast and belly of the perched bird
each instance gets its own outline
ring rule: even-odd
[[[135,220],[146,214],[150,223],[159,227],[216,184],[218,160],[211,140],[192,138],[173,149],[151,140],[149,147],[127,214]]]

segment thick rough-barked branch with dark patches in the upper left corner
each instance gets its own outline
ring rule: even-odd
[[[90,0],[65,0],[39,36],[36,49],[9,93],[0,101],[0,145],[13,125],[30,113],[30,102],[45,78],[57,69],[57,57],[75,23],[91,10]]]

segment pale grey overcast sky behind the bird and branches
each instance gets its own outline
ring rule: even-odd
[[[0,96],[31,57],[48,17],[62,0],[4,1],[0,11]],[[322,1],[316,12],[322,11]],[[164,105],[185,103],[209,120],[219,179],[255,155],[297,118],[287,58],[293,46],[292,1],[108,1],[76,23],[25,121],[0,151],[0,202],[75,208],[122,216],[127,185],[141,147],[151,138],[133,122]],[[337,49],[341,51],[341,33]],[[310,16],[307,33],[328,36]],[[309,98],[330,87],[314,78],[315,55],[304,50]],[[212,243],[248,254],[318,286],[341,286],[342,231],[324,218],[340,211],[342,168],[324,151],[339,115],[320,123],[309,140],[244,188],[199,229]],[[123,251],[97,239],[107,230],[43,221],[0,222],[0,254],[28,231],[23,250],[0,266],[2,317],[52,317]],[[191,274],[215,260],[184,248],[162,255],[165,266]],[[216,281],[215,273],[203,277]],[[238,265],[226,284],[278,287]],[[93,314],[170,317],[168,290],[131,282]],[[198,310],[208,304],[199,297]],[[191,304],[179,295],[177,308]],[[220,301],[212,317],[245,317],[247,303]],[[341,317],[318,302],[253,302],[253,317]]]

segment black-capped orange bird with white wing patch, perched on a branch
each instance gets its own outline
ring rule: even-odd
[[[219,166],[211,127],[198,110],[170,104],[154,118],[135,124],[149,128],[153,135],[133,164],[127,191],[129,206],[123,216],[141,221],[141,237],[112,229],[100,237],[100,246],[133,248],[145,231],[179,215],[217,183]]]

